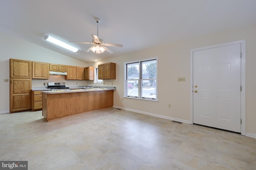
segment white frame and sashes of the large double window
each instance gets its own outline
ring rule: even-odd
[[[150,60],[156,60],[156,99],[150,99],[150,98],[142,98],[142,87],[141,87],[141,82],[142,82],[142,77],[141,77],[141,62],[143,61],[150,61]],[[127,67],[126,65],[127,64],[130,64],[130,63],[136,63],[136,62],[139,62],[139,87],[138,87],[138,93],[139,93],[139,96],[138,97],[130,97],[130,96],[127,96]],[[158,102],[158,57],[153,57],[153,58],[147,58],[147,59],[141,59],[141,60],[135,60],[135,61],[128,61],[128,62],[125,62],[124,63],[124,98],[126,99],[135,99],[135,100],[142,100],[142,101],[150,101],[150,102]]]

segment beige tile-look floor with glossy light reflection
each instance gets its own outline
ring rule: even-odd
[[[115,108],[0,114],[0,160],[29,170],[255,170],[256,139]]]

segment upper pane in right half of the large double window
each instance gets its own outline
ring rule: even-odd
[[[142,79],[156,79],[156,60],[142,61]]]

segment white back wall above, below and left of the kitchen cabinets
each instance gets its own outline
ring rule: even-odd
[[[10,110],[9,82],[4,82],[4,79],[10,78],[10,58],[80,67],[87,66],[86,63],[21,40],[14,36],[10,36],[4,32],[0,32],[0,37],[0,113],[8,113]],[[66,82],[66,85],[68,86],[87,85],[87,81],[64,80],[64,76],[50,75],[50,79],[48,80],[32,79],[32,87],[43,87],[43,82],[50,81]]]

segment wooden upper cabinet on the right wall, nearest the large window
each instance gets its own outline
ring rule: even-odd
[[[116,63],[98,65],[98,79],[116,79]]]

